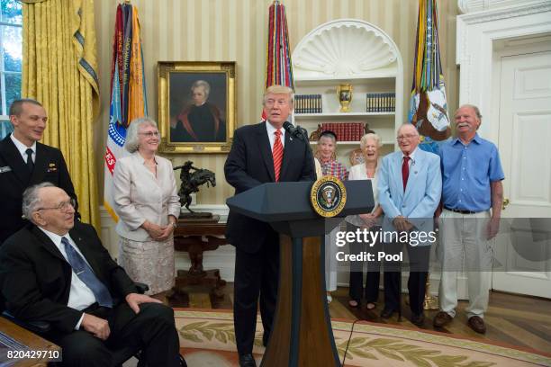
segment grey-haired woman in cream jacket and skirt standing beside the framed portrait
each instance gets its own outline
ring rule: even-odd
[[[113,173],[119,264],[133,281],[149,285],[148,294],[174,286],[173,231],[180,215],[172,164],[156,155],[159,140],[155,121],[132,121],[124,143],[131,156],[119,159]]]

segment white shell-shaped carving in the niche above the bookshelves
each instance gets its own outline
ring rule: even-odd
[[[382,31],[362,21],[333,21],[312,31],[293,54],[295,73],[321,77],[361,77],[391,67],[393,44]],[[303,71],[304,73],[301,73]]]

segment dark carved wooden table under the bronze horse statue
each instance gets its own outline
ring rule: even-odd
[[[174,230],[174,248],[176,251],[185,251],[189,254],[191,266],[189,270],[178,270],[176,276],[176,293],[184,293],[187,285],[207,285],[212,287],[214,296],[221,298],[221,287],[226,281],[221,279],[220,270],[203,270],[203,252],[214,251],[218,246],[226,245],[224,237],[226,224],[219,223],[220,216],[212,219],[178,219]]]

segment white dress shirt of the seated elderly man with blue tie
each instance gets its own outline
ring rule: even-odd
[[[40,227],[39,227],[40,228]],[[42,232],[46,234],[46,236],[50,237],[51,241],[54,243],[56,247],[58,247],[59,252],[61,255],[63,255],[63,258],[65,260],[67,259],[67,253],[65,252],[65,246],[61,243],[61,236],[58,234],[55,234],[53,232],[50,232],[44,228],[40,228]],[[69,241],[69,244],[77,250],[77,253],[82,256],[82,258],[86,261],[86,257],[82,255],[80,250],[78,249],[78,246],[75,245],[75,241],[69,236],[67,233],[65,236]],[[88,262],[86,261],[86,264]],[[90,264],[88,264],[90,265]],[[90,267],[91,268],[91,267]],[[95,303],[95,295],[88,286],[78,278],[77,273],[73,270],[71,272],[71,289],[69,291],[69,300],[67,303],[67,306],[71,309],[78,309],[79,311],[86,309],[87,307],[93,305]],[[80,327],[80,324],[82,323],[82,319],[84,318],[84,314],[80,317],[80,319],[77,322],[77,326],[75,326],[75,330],[78,330]]]

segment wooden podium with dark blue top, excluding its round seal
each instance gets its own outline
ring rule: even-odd
[[[276,317],[261,366],[340,366],[325,295],[323,235],[343,217],[374,207],[371,182],[345,182],[338,218],[324,219],[309,201],[312,183],[264,183],[228,199],[230,210],[270,223],[280,234]]]

